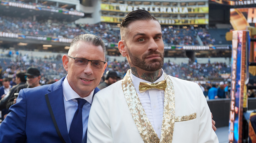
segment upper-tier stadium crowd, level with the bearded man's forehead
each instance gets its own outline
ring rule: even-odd
[[[20,33],[26,35],[50,36],[58,38],[70,38],[85,33],[90,33],[117,43],[120,38],[120,29],[117,24],[74,24],[60,21],[32,21],[20,17],[0,16],[0,31],[8,33]],[[203,45],[214,44],[206,28],[176,28],[173,26],[162,26],[163,41],[171,45]],[[198,38],[199,37],[199,38]]]

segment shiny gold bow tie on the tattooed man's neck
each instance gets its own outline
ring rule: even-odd
[[[144,92],[148,89],[151,89],[151,88],[156,88],[156,89],[160,89],[160,90],[165,90],[166,88],[166,80],[163,80],[163,81],[160,81],[158,83],[153,83],[153,84],[150,84],[150,83],[145,83],[145,82],[140,82],[139,83],[139,92]]]

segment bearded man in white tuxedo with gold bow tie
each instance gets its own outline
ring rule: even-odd
[[[120,24],[118,49],[130,64],[123,80],[94,97],[88,143],[217,143],[198,84],[166,75],[159,22],[146,10]]]

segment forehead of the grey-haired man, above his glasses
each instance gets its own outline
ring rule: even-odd
[[[81,57],[89,60],[105,60],[103,48],[100,45],[95,46],[89,42],[79,40],[72,48],[71,56],[73,57]]]

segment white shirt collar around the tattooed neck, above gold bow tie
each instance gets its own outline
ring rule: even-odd
[[[153,82],[153,83],[157,83],[157,82],[160,82],[160,81],[162,81],[162,80],[164,80],[164,76],[163,76],[163,69],[161,69],[162,70],[162,75],[160,76],[160,78],[159,79],[157,79],[155,82]],[[146,82],[146,83],[150,83],[151,84],[151,82],[149,82],[149,81],[146,81],[146,80],[143,80],[143,79],[141,79],[141,78],[139,78],[139,77],[136,77],[135,75],[133,75],[132,74],[132,72],[130,71],[130,75],[131,75],[131,79],[132,79],[132,82],[133,82],[133,85],[134,85],[134,87],[135,87],[135,89],[139,92],[139,83],[140,82]],[[150,90],[150,89],[149,89]],[[160,90],[162,93],[164,93],[164,90]],[[142,92],[142,93],[140,93],[142,96],[145,94],[145,92]]]

